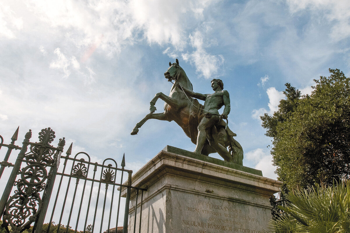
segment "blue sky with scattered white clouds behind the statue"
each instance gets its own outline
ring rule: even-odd
[[[329,68],[349,76],[349,37],[348,0],[0,0],[0,135],[9,143],[20,126],[20,145],[51,127],[54,146],[65,137],[65,150],[118,166],[125,153],[134,172],[166,145],[193,151],[175,122],[130,135],[169,94],[177,58],[195,92],[223,80],[243,165],[275,179],[259,116],[278,110],[285,83],[308,94]]]

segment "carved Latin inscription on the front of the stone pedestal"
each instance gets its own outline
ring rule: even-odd
[[[183,227],[197,233],[262,233],[259,217],[253,216],[239,206],[243,204],[216,204],[201,202],[199,205],[187,204],[183,214]]]

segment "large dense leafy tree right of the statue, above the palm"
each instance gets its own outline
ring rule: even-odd
[[[261,117],[273,163],[289,190],[350,177],[350,78],[338,69],[314,80],[311,95],[286,84],[278,111]]]

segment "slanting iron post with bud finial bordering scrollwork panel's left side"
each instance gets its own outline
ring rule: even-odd
[[[2,197],[0,200],[0,217],[2,217],[3,212],[5,211],[5,206],[6,206],[6,203],[8,201],[8,198],[10,197],[10,194],[11,194],[11,191],[13,188],[13,184],[16,181],[17,174],[21,168],[22,160],[25,157],[25,154],[27,152],[30,138],[31,138],[31,129],[29,129],[29,132],[26,133],[25,139],[23,140],[23,147],[22,147],[20,153],[18,154],[18,157],[17,157],[16,162],[15,162],[13,169],[12,169],[11,175],[8,178],[8,182],[7,182],[6,187],[2,193]]]

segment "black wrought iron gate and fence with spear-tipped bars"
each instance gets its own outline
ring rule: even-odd
[[[9,144],[3,143],[0,135],[0,149],[7,147],[0,168],[0,181],[7,179],[0,200],[1,226],[7,232],[117,233],[121,230],[118,226],[128,232],[131,191],[141,194],[142,207],[145,189],[131,186],[132,170],[124,168],[124,156],[121,168],[112,158],[93,163],[85,152],[71,158],[72,144],[63,156],[64,137],[57,147],[51,146],[55,138],[51,128],[41,130],[39,142],[29,141],[29,130],[19,147],[15,145],[18,130]],[[13,150],[20,152],[11,163]],[[121,202],[122,192],[126,192],[125,202]]]

